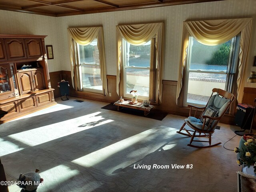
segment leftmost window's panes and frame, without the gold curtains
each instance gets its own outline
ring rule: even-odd
[[[78,45],[79,63],[81,65],[81,82],[84,91],[102,92],[100,78],[100,59],[97,38],[89,45]]]

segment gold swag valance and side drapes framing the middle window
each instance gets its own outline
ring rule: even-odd
[[[156,38],[156,69],[157,69],[157,97],[162,101],[162,65],[163,65],[163,23],[136,24],[136,25],[118,25],[116,26],[117,42],[117,76],[116,92],[119,95],[120,71],[121,67],[121,46],[122,38],[132,45],[143,45],[152,38]],[[152,91],[152,90],[151,90]]]

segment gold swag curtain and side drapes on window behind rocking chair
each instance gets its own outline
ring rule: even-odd
[[[222,44],[241,32],[240,53],[237,78],[237,99],[242,101],[244,85],[241,80],[244,76],[244,68],[247,59],[248,46],[252,28],[252,18],[226,19],[226,20],[204,20],[204,21],[185,21],[182,36],[182,54],[180,58],[180,68],[178,74],[178,86],[176,93],[176,104],[182,90],[182,79],[186,68],[186,49],[188,48],[188,38],[192,36],[198,42],[205,45]],[[247,74],[245,74],[247,75]]]

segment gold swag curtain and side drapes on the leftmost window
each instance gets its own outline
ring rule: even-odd
[[[100,53],[100,78],[102,80],[102,87],[106,94],[108,94],[107,85],[107,74],[106,74],[106,56],[105,56],[105,44],[104,44],[104,34],[103,27],[84,27],[84,28],[68,28],[70,34],[70,62],[71,70],[76,74],[71,72],[72,84],[75,90],[81,90],[81,70],[80,63],[78,61],[77,46],[76,43],[80,45],[90,44],[96,37],[98,40],[98,50]],[[74,83],[75,82],[75,83]],[[76,86],[75,86],[76,85]]]

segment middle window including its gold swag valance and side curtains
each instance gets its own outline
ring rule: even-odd
[[[116,35],[118,95],[137,90],[140,99],[161,102],[163,23],[118,25]]]

